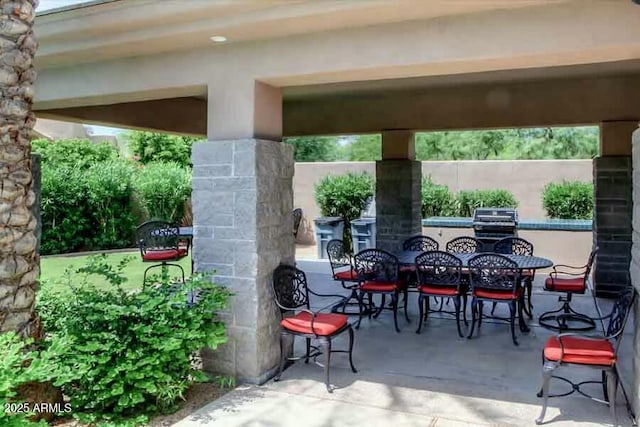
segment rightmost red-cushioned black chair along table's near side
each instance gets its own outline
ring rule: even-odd
[[[478,331],[482,325],[485,301],[505,303],[509,306],[511,338],[518,345],[515,331],[516,310],[522,307],[522,287],[518,286],[520,271],[518,264],[499,254],[479,254],[469,260],[471,281],[471,330],[467,338],[473,336],[478,320]],[[521,310],[518,313],[522,317]]]

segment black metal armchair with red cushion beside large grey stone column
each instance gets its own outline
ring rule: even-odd
[[[291,335],[300,336],[306,340],[305,363],[309,363],[310,358],[315,358],[320,354],[324,355],[324,376],[325,386],[329,393],[333,392],[333,387],[329,378],[329,366],[331,364],[331,353],[348,353],[351,370],[356,373],[353,366],[353,329],[349,319],[344,314],[322,313],[312,311],[309,304],[309,294],[321,297],[330,296],[313,292],[307,285],[307,277],[304,271],[289,265],[280,265],[273,272],[273,290],[275,302],[280,309],[280,366],[278,375],[274,381],[279,381],[284,370],[284,365],[289,360],[299,360],[300,358],[287,358],[285,339]],[[294,313],[293,316],[285,316]],[[332,350],[331,341],[343,332],[349,333],[348,350]],[[311,340],[320,341],[321,348],[311,345]],[[313,349],[313,351],[312,351]]]

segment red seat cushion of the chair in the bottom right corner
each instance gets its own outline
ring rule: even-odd
[[[580,337],[563,337],[560,347],[558,337],[551,337],[544,345],[544,357],[547,360],[582,365],[612,366],[616,362],[613,345],[607,340],[587,340]],[[562,360],[560,358],[562,357]]]

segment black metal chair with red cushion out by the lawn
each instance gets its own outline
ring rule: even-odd
[[[189,255],[190,240],[180,236],[180,228],[168,221],[151,220],[136,228],[136,240],[143,262],[154,265],[144,270],[143,286],[147,283],[147,273],[152,268],[178,267],[184,279],[184,269],[176,261]]]

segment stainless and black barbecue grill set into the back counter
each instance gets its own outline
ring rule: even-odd
[[[477,208],[473,231],[483,244],[482,252],[492,252],[498,240],[518,235],[518,212],[513,208]]]

